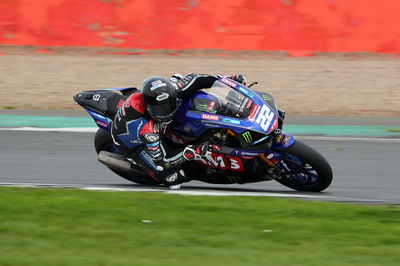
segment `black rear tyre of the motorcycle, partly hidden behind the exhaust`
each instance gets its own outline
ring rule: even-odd
[[[115,152],[114,141],[112,140],[111,133],[99,128],[94,136],[94,147],[96,153],[99,154],[100,151]],[[141,185],[158,185],[158,183],[153,180],[150,176],[144,173],[137,173],[135,175],[114,170],[108,167],[111,171],[123,177],[131,182],[138,183]]]

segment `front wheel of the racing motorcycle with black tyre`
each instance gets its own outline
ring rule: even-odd
[[[306,144],[295,141],[282,150],[283,165],[289,176],[277,179],[279,183],[298,191],[319,192],[332,182],[332,168],[317,151]]]

